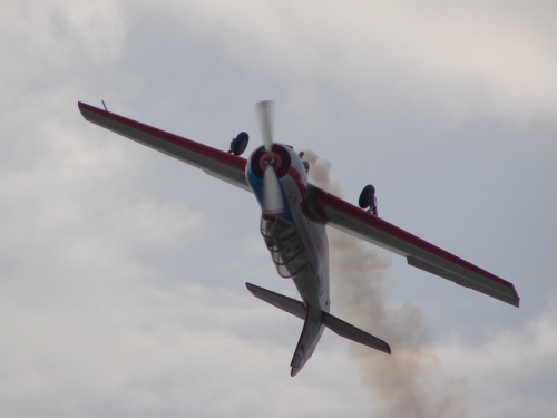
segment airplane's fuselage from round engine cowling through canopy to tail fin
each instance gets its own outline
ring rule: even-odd
[[[321,338],[322,311],[330,311],[329,245],[324,223],[312,215],[302,159],[286,145],[273,144],[272,150],[285,210],[280,217],[262,215],[261,233],[278,274],[294,281],[306,307],[304,329],[291,364],[295,375]],[[263,147],[255,149],[246,164],[247,183],[262,207],[264,154]]]

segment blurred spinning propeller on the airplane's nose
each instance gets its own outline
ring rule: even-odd
[[[265,173],[263,174],[263,214],[278,217],[284,213],[284,202],[282,198],[281,184],[276,177],[273,154],[273,133],[271,127],[272,101],[265,100],[257,104],[257,115],[260,117],[261,134],[265,155]]]

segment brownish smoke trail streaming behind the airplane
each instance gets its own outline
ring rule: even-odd
[[[310,181],[341,197],[341,187],[329,178],[331,163],[312,150],[304,158],[311,164]],[[343,232],[329,229],[328,234],[333,308],[339,307],[343,319],[389,342],[393,351],[388,357],[350,346],[350,354],[372,390],[377,417],[465,417],[466,381],[446,381],[442,388],[434,385],[437,358],[426,347],[430,331],[420,309],[409,302],[398,310],[385,307],[384,274],[390,256]]]

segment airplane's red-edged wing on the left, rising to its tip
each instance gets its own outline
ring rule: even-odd
[[[251,192],[245,179],[245,158],[140,124],[107,110],[78,103],[81,115],[96,125],[203,169]]]

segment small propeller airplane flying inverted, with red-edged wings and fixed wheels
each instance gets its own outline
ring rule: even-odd
[[[313,354],[325,328],[349,340],[391,353],[385,341],[330,313],[325,225],[402,255],[414,268],[518,308],[519,297],[512,283],[380,218],[372,185],[363,188],[359,207],[312,185],[307,181],[311,167],[303,159],[303,153],[273,142],[271,106],[271,101],[256,105],[263,145],[245,159],[241,157],[248,143],[245,132],[232,140],[231,149],[226,152],[113,114],[106,106],[101,109],[78,103],[88,121],[254,194],[262,210],[261,234],[277,273],[292,279],[302,301],[252,283],[246,283],[246,288],[254,297],[304,321],[290,364],[292,377]]]

